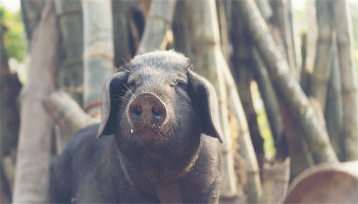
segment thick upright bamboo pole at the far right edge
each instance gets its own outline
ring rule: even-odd
[[[349,2],[333,1],[343,95],[343,131],[346,161],[358,159],[358,82],[353,57],[352,22]]]

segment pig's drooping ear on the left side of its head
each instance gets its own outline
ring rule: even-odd
[[[115,133],[116,114],[118,114],[118,105],[115,103],[115,96],[123,95],[125,82],[128,72],[117,72],[107,79],[102,91],[102,113],[101,123],[99,125],[97,137],[102,135],[112,135]]]

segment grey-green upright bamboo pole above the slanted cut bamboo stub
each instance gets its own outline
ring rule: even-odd
[[[56,84],[82,104],[83,21],[80,1],[55,1],[60,31],[60,57]]]

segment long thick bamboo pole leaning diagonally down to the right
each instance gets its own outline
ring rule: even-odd
[[[276,90],[283,97],[290,114],[295,116],[304,131],[303,136],[315,163],[338,162],[323,125],[319,122],[300,85],[290,74],[289,66],[283,56],[277,52],[276,44],[255,3],[250,0],[238,1],[238,3]]]

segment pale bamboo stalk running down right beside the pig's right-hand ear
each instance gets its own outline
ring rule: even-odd
[[[221,69],[222,53],[220,50],[220,39],[218,30],[218,20],[216,15],[215,2],[194,1],[190,2],[193,10],[192,30],[193,47],[197,71],[204,73],[204,77],[209,80],[215,88],[220,112],[220,125],[225,138],[222,146],[223,162],[223,185],[220,195],[223,197],[233,197],[237,193],[233,149],[231,133],[228,120],[227,90]],[[224,61],[225,62],[225,61]]]

